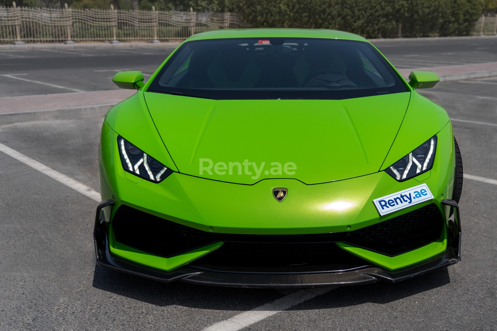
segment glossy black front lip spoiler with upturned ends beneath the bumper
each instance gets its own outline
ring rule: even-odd
[[[100,210],[109,205],[113,205],[113,201],[104,201],[97,207],[97,215],[93,233],[96,264],[164,283],[179,280],[185,283],[199,285],[250,288],[312,288],[346,286],[374,283],[380,280],[394,283],[433,271],[438,268],[455,264],[461,260],[461,225],[459,218],[459,206],[453,200],[442,201],[442,205],[448,205],[455,209],[454,221],[449,221],[449,224],[453,225],[453,231],[448,231],[448,235],[452,238],[448,238],[450,240],[447,241],[447,249],[444,253],[416,265],[395,271],[389,271],[380,267],[365,267],[345,272],[310,274],[241,274],[205,271],[189,266],[165,272],[121,259],[110,253],[107,231],[105,230],[106,224],[104,221],[100,220]]]

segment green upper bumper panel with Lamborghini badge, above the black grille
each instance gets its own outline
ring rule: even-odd
[[[450,126],[438,136],[431,170],[436,175],[421,181],[428,185],[437,204],[441,194],[447,198],[452,193],[453,146],[447,132]],[[102,199],[114,196],[116,208],[126,204],[203,231],[213,227],[214,232],[241,234],[344,232],[348,225],[356,230],[422,206],[380,217],[373,199],[419,184],[416,178],[397,182],[384,171],[314,185],[296,179],[265,179],[241,185],[181,173],[173,173],[160,183],[135,183],[127,178],[120,164],[116,138],[117,133],[104,125],[100,149]],[[274,187],[288,189],[285,200],[274,199]],[[330,209],[330,204],[337,201],[348,202],[351,207],[342,211]]]

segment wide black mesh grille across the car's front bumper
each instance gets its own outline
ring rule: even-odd
[[[351,232],[237,235],[205,232],[121,206],[112,220],[112,227],[118,242],[166,257],[220,241],[232,243],[229,247],[235,255],[316,255],[334,248],[333,243],[345,242],[393,256],[440,238],[442,215],[436,205],[430,204]]]

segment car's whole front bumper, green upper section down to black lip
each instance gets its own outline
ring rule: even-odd
[[[317,185],[307,185],[295,179],[285,178],[266,179],[253,185],[241,185],[177,172],[161,183],[152,183],[123,170],[117,150],[117,133],[104,123],[100,147],[101,195],[103,199],[109,199],[103,205],[115,203],[115,206],[106,216],[107,220],[111,220],[110,224],[102,220],[97,213],[95,221],[97,264],[163,282],[181,280],[218,286],[318,287],[370,283],[378,280],[394,282],[456,263],[460,260],[461,239],[458,206],[450,200],[440,201],[443,197],[450,197],[452,193],[455,165],[450,125],[438,133],[437,137],[437,157],[433,168],[403,182],[397,182],[384,171],[379,171]],[[153,155],[155,156],[156,153]],[[378,212],[371,202],[374,198],[408,189],[419,183],[428,185],[433,193],[432,201],[378,217]],[[274,187],[285,187],[290,192],[281,203],[275,202],[270,194]],[[350,208],[345,210],[331,208],[336,202],[347,202]],[[390,255],[385,250],[374,250],[370,246],[361,247],[356,245],[357,242],[336,240],[331,243],[338,250],[338,255],[344,257],[342,260],[357,261],[353,267],[325,265],[321,268],[324,260],[319,259],[313,265],[318,267],[304,270],[303,267],[295,266],[300,262],[292,260],[287,263],[285,260],[284,263],[279,263],[281,255],[273,258],[273,254],[270,254],[272,260],[271,258],[265,260],[273,264],[269,266],[268,263],[256,264],[259,261],[246,263],[248,259],[224,258],[230,255],[226,252],[230,253],[231,248],[238,248],[232,244],[236,240],[226,238],[227,234],[239,237],[298,237],[339,233],[348,237],[356,231],[385,224],[428,204],[434,204],[441,213],[443,234],[439,237],[440,240],[431,244],[426,242],[417,246],[418,248],[403,248],[400,253],[392,252]],[[115,222],[115,216],[123,206],[168,221],[176,228],[187,227],[189,230],[185,232],[186,237],[190,235],[195,237],[198,232],[218,237],[212,242],[189,246],[188,250],[176,249],[169,252],[158,251],[150,245],[149,249],[133,245],[122,240],[122,232],[116,232],[116,225],[119,222]],[[101,207],[102,205],[99,208]],[[454,220],[449,220],[447,217],[449,207],[456,210]],[[148,241],[161,245],[169,244],[169,240],[157,238],[158,236],[155,236],[154,240],[149,240],[150,238],[147,237],[149,233],[161,235],[167,232],[146,227],[144,219],[136,220],[135,223],[129,222],[132,225],[129,227],[130,238],[138,237],[133,230],[143,227],[144,230],[141,232],[145,233],[145,236],[142,236],[145,239],[142,243]],[[121,236],[120,240],[116,240],[116,236]],[[171,240],[183,238],[170,237]],[[216,242],[225,244],[221,243],[223,247],[217,249],[212,246],[216,245]],[[254,252],[258,250],[266,252],[265,248],[259,247],[258,244],[239,250],[243,250],[241,253],[245,253],[245,256],[253,254],[256,258],[262,254]],[[339,259],[338,255],[332,255],[335,251],[329,254],[328,261]],[[286,253],[285,250],[283,252]],[[223,255],[222,258],[213,261],[215,256],[219,255]],[[302,255],[308,256],[307,251]],[[227,260],[230,261],[230,265],[221,264]],[[238,264],[235,265],[235,262]],[[284,270],[275,270],[275,262],[279,263],[278,267],[284,265]],[[342,265],[344,264],[350,266],[353,263]]]

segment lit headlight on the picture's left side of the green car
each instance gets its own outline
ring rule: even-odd
[[[150,155],[132,145],[123,137],[117,137],[119,155],[123,169],[135,176],[158,183],[172,173],[172,170]]]

